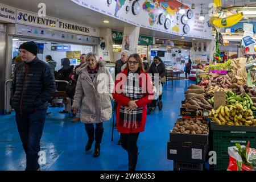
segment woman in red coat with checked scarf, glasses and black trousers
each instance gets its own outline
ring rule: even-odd
[[[117,105],[117,130],[122,147],[128,152],[129,171],[135,171],[138,159],[137,140],[144,131],[147,104],[154,97],[152,82],[145,73],[141,57],[130,55],[126,68],[117,75],[113,98]]]

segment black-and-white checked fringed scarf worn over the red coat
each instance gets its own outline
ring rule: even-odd
[[[130,100],[139,100],[143,97],[141,85],[139,85],[139,79],[137,78],[140,71],[136,73],[128,72],[126,85],[123,87],[123,94],[129,97]],[[141,127],[142,123],[142,111],[143,107],[137,108],[137,110],[131,113],[125,111],[125,106],[120,107],[119,122],[121,126],[128,129],[137,129]]]

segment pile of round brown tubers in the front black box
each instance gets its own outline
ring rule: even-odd
[[[177,119],[172,133],[208,135],[209,126],[207,121],[201,122],[199,119]]]

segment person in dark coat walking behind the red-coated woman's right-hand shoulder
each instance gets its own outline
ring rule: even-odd
[[[161,80],[164,80],[166,77],[166,65],[164,65],[163,61],[159,56],[154,57],[154,62],[151,64],[150,68],[148,69],[148,73],[152,74],[152,80],[154,80],[155,74],[158,74]],[[158,80],[154,80],[158,81]],[[163,81],[161,82],[163,84]],[[162,95],[159,96],[159,100],[162,100]]]

